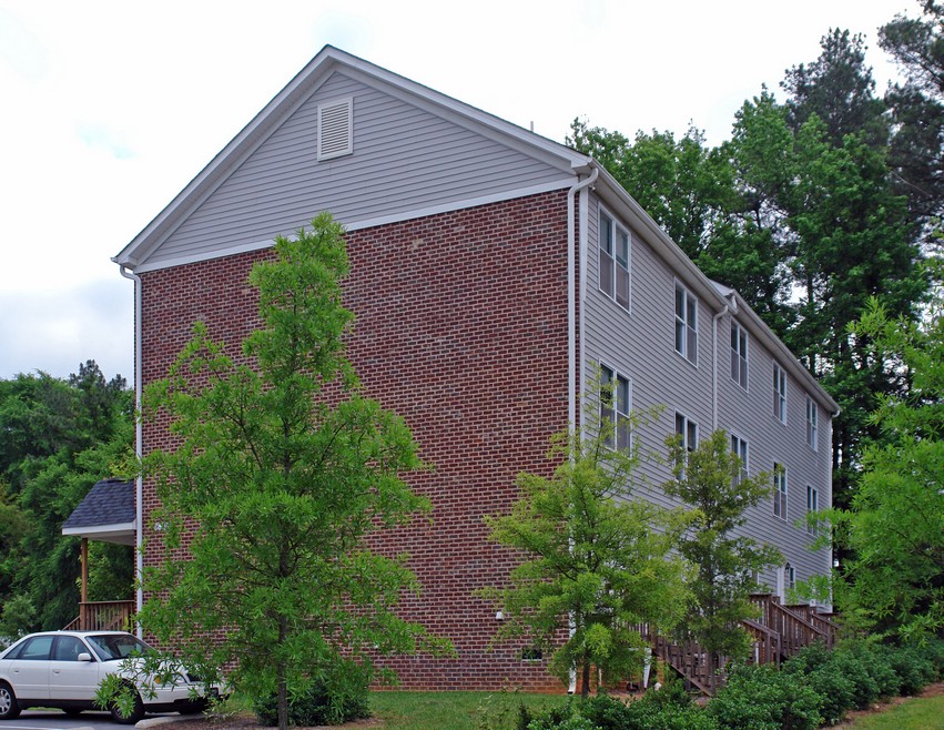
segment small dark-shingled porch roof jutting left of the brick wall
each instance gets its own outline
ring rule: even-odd
[[[134,545],[134,481],[98,481],[62,524],[63,535]]]

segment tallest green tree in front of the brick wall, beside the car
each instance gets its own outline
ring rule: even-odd
[[[281,728],[290,696],[363,678],[375,653],[448,648],[394,612],[418,590],[405,556],[364,541],[428,504],[402,477],[423,466],[409,430],[361,394],[346,358],[347,268],[327,213],[278,236],[275,260],[250,275],[263,327],[242,358],[197,323],[145,394],[179,445],[145,464],[166,551],[145,571],[141,620],[192,663],[235,666],[251,697],[277,694]]]

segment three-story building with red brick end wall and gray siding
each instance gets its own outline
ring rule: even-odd
[[[795,473],[796,495],[806,483],[820,507],[829,504],[835,404],[737,293],[707,280],[606,171],[331,47],[115,257],[136,282],[139,386],[166,374],[197,320],[237,346],[257,325],[246,283],[253,262],[268,255],[276,234],[323,210],[348,230],[354,367],[435,465],[410,479],[430,498],[433,523],[387,533],[379,545],[409,552],[423,595],[404,611],[448,636],[458,656],[394,661],[405,687],[559,687],[521,646],[487,650],[497,619],[474,591],[500,584],[512,565],[486,540],[483,516],[509,508],[517,474],[550,470],[549,437],[579,418],[595,367],[631,383],[633,407],[667,406],[639,437],[661,444],[680,416],[704,434],[734,422],[745,449],[750,437],[752,459],[759,453],[758,469],[778,458]],[[684,352],[673,334],[679,292],[689,303]],[[751,343],[734,378],[729,361],[741,361],[729,357],[729,328]],[[749,364],[758,373],[753,394]],[[774,366],[790,388],[776,423],[748,399],[770,410],[764,372]],[[140,448],[166,438],[163,424],[145,424]],[[798,499],[784,495],[800,517]],[[139,485],[139,539],[153,529],[154,504],[153,489]],[[764,514],[753,528],[792,562],[771,582],[828,570],[828,551],[808,552],[805,531],[781,523]]]

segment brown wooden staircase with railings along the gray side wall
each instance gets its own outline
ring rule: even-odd
[[[830,620],[831,614],[821,614],[805,604],[784,606],[771,594],[753,594],[751,602],[758,608],[759,617],[741,622],[753,639],[749,663],[780,666],[781,661],[815,641],[822,641],[832,649],[838,627]],[[684,677],[691,687],[710,696],[723,686],[727,657],[721,658],[715,671],[709,653],[696,641],[674,643],[647,631],[643,629],[641,632],[652,642],[653,653]]]

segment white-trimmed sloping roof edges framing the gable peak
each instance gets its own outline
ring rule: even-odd
[[[112,261],[131,270],[146,266],[161,243],[337,71],[539,160],[564,176],[589,170],[591,164],[590,158],[562,144],[325,45]]]

